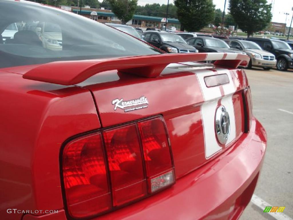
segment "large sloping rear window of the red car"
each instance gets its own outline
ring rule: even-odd
[[[0,68],[162,53],[105,24],[31,2],[1,1],[0,34],[11,24],[19,28],[0,43]]]

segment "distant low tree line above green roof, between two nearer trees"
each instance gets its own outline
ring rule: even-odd
[[[165,4],[146,4],[145,6],[137,6],[135,14],[155,16],[155,17],[166,17],[167,5]],[[178,18],[177,17],[177,7],[173,4],[169,4],[168,8],[168,18]]]

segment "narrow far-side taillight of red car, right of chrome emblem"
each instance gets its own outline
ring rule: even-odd
[[[251,128],[252,121],[252,98],[250,87],[243,90],[243,105],[244,105],[244,132],[247,133]]]

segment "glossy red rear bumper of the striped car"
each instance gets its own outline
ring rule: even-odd
[[[238,219],[255,189],[266,149],[263,126],[253,119],[251,131],[214,160],[177,180],[171,188],[105,214],[105,219]],[[64,210],[23,220],[65,220]]]

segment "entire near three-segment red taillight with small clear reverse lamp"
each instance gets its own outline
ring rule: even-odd
[[[70,141],[63,150],[62,172],[73,218],[147,197],[175,183],[166,125],[157,116]]]

